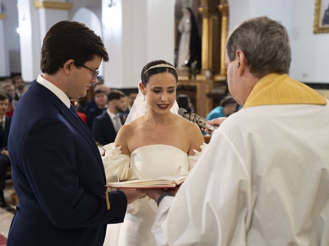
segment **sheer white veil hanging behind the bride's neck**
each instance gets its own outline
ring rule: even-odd
[[[175,103],[174,103],[173,107],[171,107],[170,112],[172,112],[174,114],[178,114],[178,109],[179,109],[179,107],[178,107],[177,101],[175,100]],[[141,91],[138,87],[138,94],[136,96],[134,104],[133,104],[124,124],[129,124],[133,120],[146,114],[147,111],[148,111],[147,100],[144,98],[144,95],[141,93]]]

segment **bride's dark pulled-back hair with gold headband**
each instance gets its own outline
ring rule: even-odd
[[[164,72],[172,73],[175,76],[177,82],[178,75],[175,67],[172,64],[168,63],[168,61],[165,60],[150,61],[147,65],[143,67],[140,75],[144,87],[146,87],[152,75]]]

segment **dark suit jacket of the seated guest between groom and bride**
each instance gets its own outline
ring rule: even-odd
[[[123,123],[123,118],[126,117],[126,114],[119,113],[119,115],[121,123]],[[101,145],[107,145],[111,142],[114,142],[117,133],[115,132],[113,122],[106,110],[94,119],[93,133],[95,140]]]

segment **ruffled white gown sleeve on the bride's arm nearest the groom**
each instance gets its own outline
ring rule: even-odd
[[[105,156],[102,156],[106,182],[119,182],[130,179],[140,179],[135,169],[130,167],[130,156],[121,154],[121,146],[114,143],[105,145]]]

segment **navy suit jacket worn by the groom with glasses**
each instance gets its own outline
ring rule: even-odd
[[[92,133],[35,80],[11,122],[8,150],[19,197],[7,245],[103,244],[106,224],[123,222],[126,197],[109,192]]]

